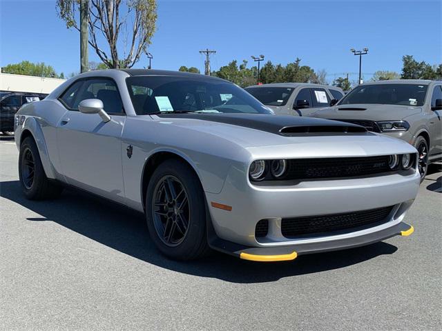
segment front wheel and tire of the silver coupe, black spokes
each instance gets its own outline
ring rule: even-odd
[[[153,172],[146,192],[146,221],[152,241],[166,257],[188,261],[210,252],[202,185],[182,161],[166,160]]]

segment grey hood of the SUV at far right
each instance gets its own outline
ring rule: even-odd
[[[378,104],[353,104],[338,105],[318,110],[312,117],[322,119],[368,119],[372,121],[401,120],[410,115],[422,112],[421,107],[378,105]]]

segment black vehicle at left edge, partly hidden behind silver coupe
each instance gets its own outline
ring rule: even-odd
[[[0,132],[12,135],[14,115],[21,106],[46,98],[48,94],[26,92],[0,92]]]

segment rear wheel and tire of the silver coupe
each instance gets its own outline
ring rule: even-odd
[[[30,200],[44,200],[59,197],[63,188],[49,181],[44,172],[37,144],[27,137],[20,145],[19,179],[23,193]]]

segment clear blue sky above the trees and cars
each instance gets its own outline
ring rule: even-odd
[[[368,48],[363,76],[376,70],[401,72],[402,57],[442,63],[442,0],[160,0],[157,32],[149,51],[155,69],[195,66],[198,51],[216,50],[212,70],[251,55],[282,63],[301,59],[327,80],[350,73],[357,80],[358,57],[350,48]],[[57,73],[79,72],[79,32],[57,17],[55,1],[0,0],[0,66],[28,60]],[[89,49],[89,60],[99,61]],[[134,68],[148,65],[146,57]]]

